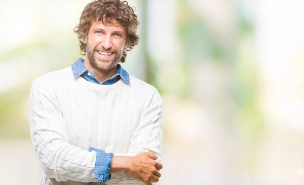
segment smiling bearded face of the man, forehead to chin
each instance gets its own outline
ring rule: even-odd
[[[115,19],[113,25],[93,21],[87,39],[87,57],[92,67],[107,71],[116,67],[121,60],[126,44],[126,29]]]

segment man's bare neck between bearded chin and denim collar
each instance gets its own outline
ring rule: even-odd
[[[95,67],[93,67],[89,61],[89,59],[86,57],[84,61],[84,65],[91,71],[93,72],[94,76],[97,78],[97,80],[102,83],[106,81],[107,79],[111,78],[113,75],[116,74],[117,70],[117,65],[113,67],[112,69],[109,70],[100,70]]]

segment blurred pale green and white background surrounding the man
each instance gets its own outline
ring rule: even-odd
[[[90,2],[1,0],[1,184],[40,184],[30,85],[83,57],[73,28]],[[123,67],[164,103],[156,184],[303,184],[304,1],[128,2],[141,39]]]

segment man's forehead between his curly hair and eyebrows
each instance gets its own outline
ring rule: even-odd
[[[126,32],[125,26],[119,24],[116,19],[110,19],[109,21],[104,20],[104,24],[100,20],[92,21],[90,30],[92,29],[103,29],[107,31],[121,31]]]

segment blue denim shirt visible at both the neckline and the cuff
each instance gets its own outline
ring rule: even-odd
[[[123,69],[120,64],[117,64],[117,72],[111,78],[105,80],[100,83],[97,78],[94,76],[93,72],[91,72],[84,64],[84,60],[79,58],[75,63],[71,65],[74,77],[82,77],[85,80],[100,84],[100,85],[112,85],[117,83],[120,79],[122,79],[125,83],[130,85],[130,77],[129,73]],[[109,174],[110,166],[112,163],[113,153],[105,153],[103,150],[94,149],[90,147],[89,152],[96,152],[96,162],[94,168],[94,178],[99,182],[106,182],[111,179],[111,175]],[[93,183],[93,182],[89,182]],[[88,184],[89,184],[88,183]]]

